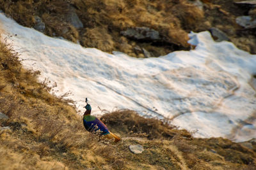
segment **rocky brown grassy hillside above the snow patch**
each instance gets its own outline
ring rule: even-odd
[[[158,57],[189,50],[191,31],[211,31],[220,41],[256,53],[255,25],[236,23],[244,15],[254,20],[255,9],[237,1],[1,0],[0,10],[26,27],[109,53]]]

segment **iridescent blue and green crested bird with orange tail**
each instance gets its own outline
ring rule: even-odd
[[[91,115],[92,107],[90,106],[90,104],[88,104],[87,98],[85,99],[85,102],[86,106],[84,106],[84,108],[86,109],[86,111],[84,111],[83,116],[83,123],[85,129],[89,132],[100,134],[108,139],[115,138],[115,142],[120,141],[121,139],[115,134],[111,133],[108,130],[108,127],[103,122],[101,122],[99,118]]]

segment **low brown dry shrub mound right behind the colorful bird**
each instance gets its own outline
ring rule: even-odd
[[[166,138],[172,139],[173,136],[180,134],[172,126],[154,118],[144,118],[131,110],[119,110],[106,113],[101,117],[102,121],[108,125],[109,129],[127,134],[142,134],[148,139]],[[120,129],[120,127],[122,127]],[[184,131],[184,136],[191,137],[189,132]]]

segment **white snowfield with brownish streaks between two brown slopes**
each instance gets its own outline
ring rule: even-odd
[[[130,109],[170,118],[195,137],[256,138],[256,55],[216,43],[209,32],[189,34],[195,50],[148,59],[51,38],[3,13],[0,32],[24,66],[41,71],[41,81],[57,83],[54,93],[72,93],[79,114],[88,97],[93,114]]]

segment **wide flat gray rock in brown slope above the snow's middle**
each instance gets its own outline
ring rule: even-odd
[[[160,39],[159,32],[148,27],[132,27],[126,31],[121,31],[121,34],[137,40],[155,41]]]

